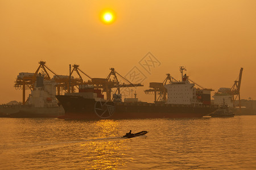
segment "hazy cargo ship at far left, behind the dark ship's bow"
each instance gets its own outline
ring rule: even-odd
[[[32,76],[34,73],[19,73],[17,78]],[[57,105],[56,82],[45,80],[42,74],[36,76],[35,88],[31,90],[26,103],[11,101],[0,105],[0,117],[58,117],[64,114],[63,107]]]

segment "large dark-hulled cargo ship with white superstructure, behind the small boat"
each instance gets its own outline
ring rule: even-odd
[[[210,104],[210,91],[199,89],[183,75],[181,81],[163,84],[167,100],[146,103],[138,98],[122,101],[121,94],[113,94],[105,100],[102,91],[93,85],[80,85],[79,92],[56,95],[65,114],[58,118],[71,119],[129,119],[129,118],[199,118],[216,111],[217,105]]]

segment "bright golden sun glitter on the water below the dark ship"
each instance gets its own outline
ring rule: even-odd
[[[82,157],[87,164],[85,168],[117,169],[133,160],[127,158],[126,151],[130,148],[118,134],[120,125],[117,121],[100,120],[95,122],[95,127],[97,136],[102,138],[81,144]]]

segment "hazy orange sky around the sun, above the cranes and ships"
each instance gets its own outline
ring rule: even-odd
[[[116,19],[106,25],[100,14],[108,8]],[[154,98],[143,94],[148,82],[166,73],[180,79],[179,66],[215,91],[232,87],[243,67],[242,99],[256,100],[255,47],[255,0],[0,0],[0,103],[22,101],[15,78],[40,60],[57,74],[76,63],[101,78],[110,67],[126,75],[136,66],[147,77],[142,100]],[[150,73],[139,65],[148,52],[160,62]]]

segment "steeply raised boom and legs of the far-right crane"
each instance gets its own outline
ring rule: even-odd
[[[243,73],[243,68],[240,69],[239,79],[234,81],[234,84],[231,87],[231,94],[232,94],[233,105],[235,107],[235,101],[236,101],[236,99],[238,97],[240,110],[241,110],[240,87],[241,87],[242,73]]]

